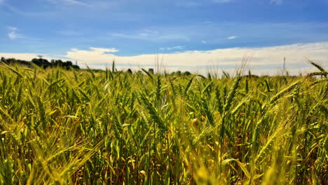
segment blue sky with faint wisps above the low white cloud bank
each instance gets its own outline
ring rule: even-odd
[[[94,51],[86,54],[97,60],[107,54],[326,46],[327,10],[328,0],[0,0],[0,54],[83,60],[73,54]],[[177,64],[183,65],[188,63]]]

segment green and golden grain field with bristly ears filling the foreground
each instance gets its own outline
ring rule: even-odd
[[[0,66],[0,184],[328,184],[327,72]]]

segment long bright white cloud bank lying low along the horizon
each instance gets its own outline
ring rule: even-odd
[[[328,42],[320,43],[296,43],[285,46],[272,46],[264,48],[226,48],[199,51],[192,50],[181,53],[158,54],[163,60],[164,66],[169,71],[198,72],[205,74],[209,69],[217,71],[233,72],[240,64],[245,53],[252,56],[248,64],[252,74],[279,74],[282,69],[283,58],[286,57],[286,67],[289,74],[305,74],[308,71],[316,70],[306,62],[306,57],[310,60],[327,67],[328,62]],[[112,60],[116,61],[118,69],[135,69],[140,67],[153,67],[157,54],[118,56],[113,53],[115,48],[90,48],[90,50],[71,49],[63,58],[64,60],[78,61],[80,67],[88,64],[89,67],[104,69]],[[0,53],[0,57],[15,57],[22,60],[31,60],[36,57],[33,53]]]

